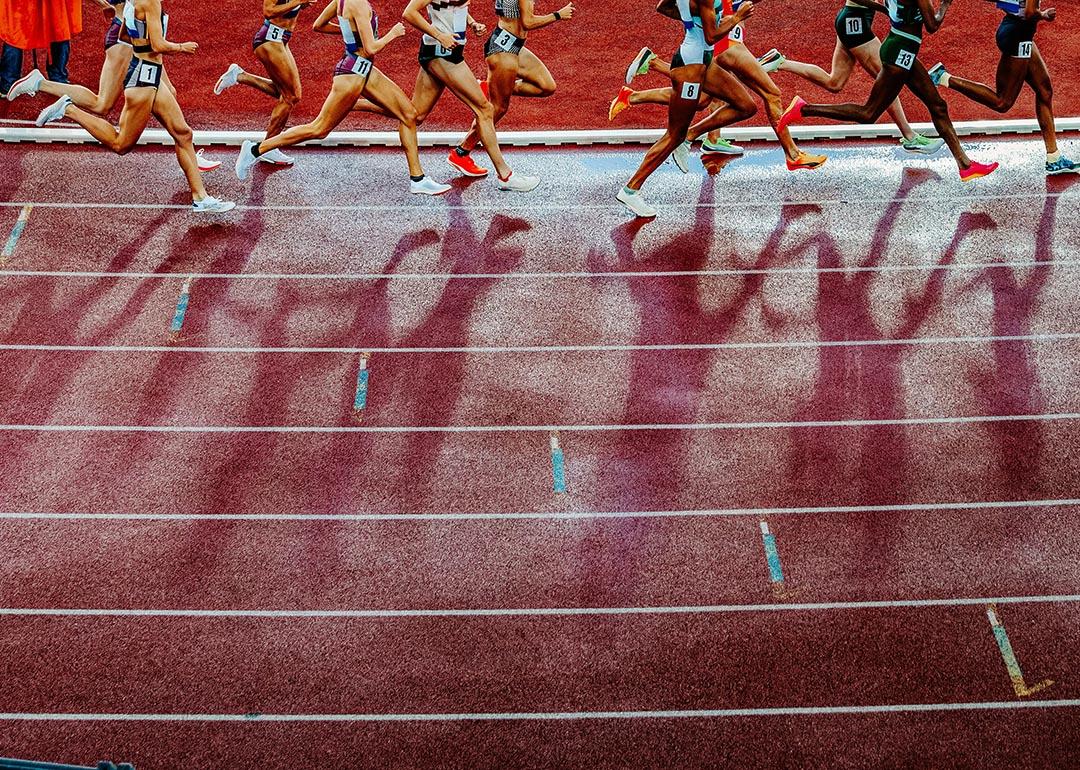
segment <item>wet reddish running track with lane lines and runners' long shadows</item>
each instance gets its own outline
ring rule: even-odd
[[[827,151],[665,166],[646,225],[638,150],[442,201],[300,151],[217,220],[164,151],[6,151],[4,753],[1080,761],[1080,186]]]

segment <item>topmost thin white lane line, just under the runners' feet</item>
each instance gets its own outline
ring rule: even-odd
[[[961,204],[967,205],[973,201],[1008,201],[1015,203],[1016,201],[1044,201],[1048,199],[1065,199],[1065,200],[1077,200],[1080,201],[1080,197],[1072,195],[1068,191],[1059,192],[1029,192],[1029,193],[1001,193],[1001,194],[977,194],[969,193],[964,195],[927,195],[923,198],[910,198],[910,197],[892,197],[892,198],[862,198],[853,200],[851,198],[831,198],[821,200],[799,200],[799,201],[778,201],[775,199],[759,199],[759,200],[746,200],[740,198],[729,198],[721,201],[714,201],[712,203],[701,203],[697,201],[680,201],[678,203],[662,203],[652,202],[652,205],[657,208],[662,210],[725,210],[728,211],[732,207],[734,208],[771,208],[771,207],[789,207],[789,206],[849,206],[852,203],[858,203],[861,206],[866,205],[891,205],[894,203],[906,203],[912,205],[921,205],[928,203],[936,204]],[[187,212],[190,214],[191,206],[186,206],[181,204],[174,203],[79,203],[75,201],[54,201],[54,202],[38,202],[38,201],[0,201],[0,207],[12,207],[24,205],[32,205],[35,208],[64,208],[64,210],[95,210],[95,208],[106,208],[106,210],[134,210],[134,211],[177,211]],[[240,204],[237,206],[235,211],[258,211],[258,212],[394,212],[396,214],[403,214],[408,212],[416,212],[419,216],[431,218],[434,212],[440,211],[467,211],[467,212],[499,212],[504,213],[507,211],[505,204],[502,203],[470,203],[468,205],[440,205],[430,206],[422,203],[397,203],[397,204],[355,204],[355,205],[325,205],[325,204],[303,204],[303,203],[286,203],[286,204],[271,204],[271,205],[246,205]],[[612,215],[618,215],[619,219],[625,219],[625,214],[621,208],[607,203],[537,203],[529,207],[531,212],[539,211],[567,211],[567,212],[580,212],[580,211],[599,211],[599,212],[610,212]],[[222,224],[227,220],[221,220]]]

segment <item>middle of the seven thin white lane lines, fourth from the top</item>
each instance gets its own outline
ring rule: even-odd
[[[791,420],[777,422],[675,422],[584,425],[76,425],[0,424],[0,433],[613,433],[621,431],[743,431],[811,428],[880,428],[885,425],[973,425],[994,422],[1056,422],[1080,419],[1080,413],[905,417],[881,420]]]

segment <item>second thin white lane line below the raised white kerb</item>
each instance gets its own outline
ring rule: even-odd
[[[717,268],[714,270],[625,270],[625,271],[535,271],[509,273],[173,273],[173,272],[108,272],[104,270],[0,270],[0,278],[59,279],[135,279],[166,280],[193,278],[222,281],[549,281],[564,279],[622,280],[664,278],[725,278],[738,275],[820,275],[829,273],[906,273],[906,272],[973,272],[978,270],[1025,270],[1080,268],[1080,260],[1047,259],[1009,262],[950,262],[923,265],[853,265],[819,268]]]

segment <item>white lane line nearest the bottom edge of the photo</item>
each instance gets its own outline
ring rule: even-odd
[[[964,703],[882,703],[858,706],[774,706],[769,708],[692,708],[621,712],[474,712],[444,714],[44,714],[0,713],[0,721],[570,721],[585,719],[724,719],[731,717],[848,716],[927,712],[986,712],[1021,708],[1077,708],[1080,699],[981,701]]]

